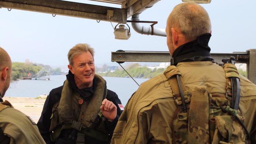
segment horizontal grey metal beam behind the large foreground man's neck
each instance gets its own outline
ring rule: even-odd
[[[247,63],[249,60],[248,52],[211,53],[211,57],[215,62],[222,62],[222,59],[230,58],[230,56],[235,57],[237,63]],[[171,55],[169,52],[111,52],[111,61],[116,62],[170,62],[170,60]]]

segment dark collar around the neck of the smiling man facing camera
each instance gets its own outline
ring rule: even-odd
[[[87,87],[84,89],[78,89],[75,79],[74,79],[74,74],[72,74],[70,72],[70,70],[69,70],[69,74],[67,74],[66,77],[67,77],[67,80],[69,81],[72,89],[77,91],[81,95],[83,100],[87,101],[93,96],[94,90],[96,89],[96,86],[97,86],[97,80],[96,80],[97,78],[96,77],[94,77],[94,79],[93,79],[93,86]]]

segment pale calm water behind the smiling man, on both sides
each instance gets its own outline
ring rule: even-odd
[[[14,81],[10,84],[9,89],[6,91],[6,97],[29,97],[35,98],[40,95],[46,94],[61,85],[65,81],[66,76],[50,76],[50,80],[20,80]],[[139,86],[131,78],[112,78],[104,77],[107,81],[109,90],[117,93],[119,99],[126,105],[130,96],[139,88]],[[135,79],[137,83],[141,84],[147,79]]]

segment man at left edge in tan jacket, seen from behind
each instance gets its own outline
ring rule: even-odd
[[[11,81],[11,58],[0,47],[0,144],[45,144],[35,122],[7,100],[4,94]]]

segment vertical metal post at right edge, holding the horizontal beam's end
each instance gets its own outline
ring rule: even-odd
[[[248,74],[247,78],[249,78],[249,80],[252,83],[256,84],[256,49],[250,49],[250,50],[247,50],[247,52],[249,52],[249,56],[250,56],[249,69],[247,69],[247,74]]]

